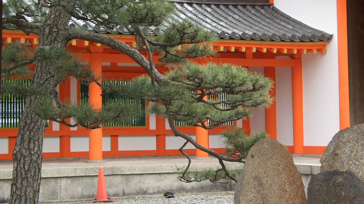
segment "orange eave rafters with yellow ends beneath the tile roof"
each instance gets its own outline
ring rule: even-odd
[[[106,36],[113,37],[121,42],[124,42],[131,47],[138,49],[137,44],[135,43],[134,36],[132,35],[123,35],[123,34],[104,34]],[[26,35],[25,33],[21,32],[20,30],[3,30],[3,43],[10,43],[19,41],[20,43],[26,43],[29,46],[37,46],[37,38],[35,34]],[[289,56],[290,54],[306,54],[306,53],[313,53],[316,54],[317,52],[326,53],[326,45],[329,41],[318,41],[318,42],[283,42],[283,41],[257,41],[257,40],[226,40],[226,39],[219,39],[215,42],[211,49],[215,49],[219,53],[219,57],[211,57],[208,59],[196,59],[197,62],[206,62],[206,61],[215,61],[215,62],[224,62],[224,63],[232,63],[235,58],[242,59],[242,58],[250,58],[248,56],[252,56],[254,54],[254,58],[259,59],[250,59],[250,61],[246,62],[248,64],[257,63],[254,60],[262,60],[264,58],[276,57],[286,55]],[[75,53],[79,53],[80,56],[87,61],[88,58],[91,56],[90,53],[103,53],[103,60],[105,62],[119,62],[122,58],[123,61],[127,61],[127,63],[135,63],[130,59],[128,62],[128,57],[124,54],[120,54],[116,50],[112,50],[110,47],[97,44],[94,42],[89,42],[85,40],[70,40],[67,44],[68,49],[73,50]],[[140,50],[140,52],[147,57],[147,53],[144,53],[144,50]],[[231,60],[232,58],[232,60]],[[229,60],[230,59],[230,60]],[[273,62],[273,61],[272,61]],[[260,62],[260,64],[269,64],[272,63],[271,61],[264,61]],[[290,65],[287,62],[278,62],[277,60],[274,61],[273,64],[281,64],[281,65]],[[153,64],[160,65],[161,63],[158,62],[158,55],[154,53],[153,56]],[[233,63],[235,64],[235,63]],[[241,64],[241,63],[239,63]],[[249,66],[248,64],[244,66]],[[252,66],[252,65],[250,65]]]

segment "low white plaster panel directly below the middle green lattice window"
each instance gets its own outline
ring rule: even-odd
[[[119,135],[119,151],[157,150],[155,135]]]

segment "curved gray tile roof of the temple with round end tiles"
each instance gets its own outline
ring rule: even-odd
[[[173,15],[174,20],[191,19],[201,26],[214,31],[219,38],[223,39],[328,41],[332,38],[332,34],[312,28],[286,15],[276,7],[271,6],[268,0],[173,1],[175,1],[177,9],[176,15]],[[123,26],[109,29],[104,26],[95,25],[91,21],[82,21],[74,18],[70,20],[69,26],[70,28],[77,27],[98,33],[131,34]],[[144,27],[143,32],[147,35],[157,35],[163,33],[165,29],[165,25],[158,28]]]

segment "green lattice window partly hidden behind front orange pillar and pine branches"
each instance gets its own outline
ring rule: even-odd
[[[127,86],[129,81],[102,81],[103,84],[114,83],[117,85]],[[107,94],[102,96],[102,102],[106,102],[106,100],[113,100],[115,98],[119,98],[120,96],[115,93]],[[137,103],[139,101],[132,98],[124,98],[127,103]],[[81,84],[80,86],[80,102],[88,101],[88,85]],[[145,126],[145,101],[140,101],[140,114],[138,117],[130,118],[128,121],[123,123],[117,123],[116,121],[110,123],[103,123],[104,127],[116,127],[116,126]]]

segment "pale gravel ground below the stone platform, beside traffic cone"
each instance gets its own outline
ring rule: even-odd
[[[163,194],[150,196],[129,196],[112,198],[112,204],[233,204],[234,194],[232,192],[209,193],[209,194],[185,194],[175,195],[174,198],[165,198]],[[86,204],[90,200],[46,202],[43,204]]]

